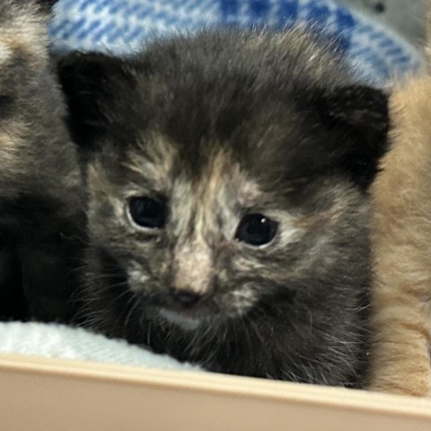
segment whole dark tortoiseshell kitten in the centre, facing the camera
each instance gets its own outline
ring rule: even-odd
[[[301,28],[59,74],[89,161],[85,323],[209,370],[357,384],[386,96]]]

